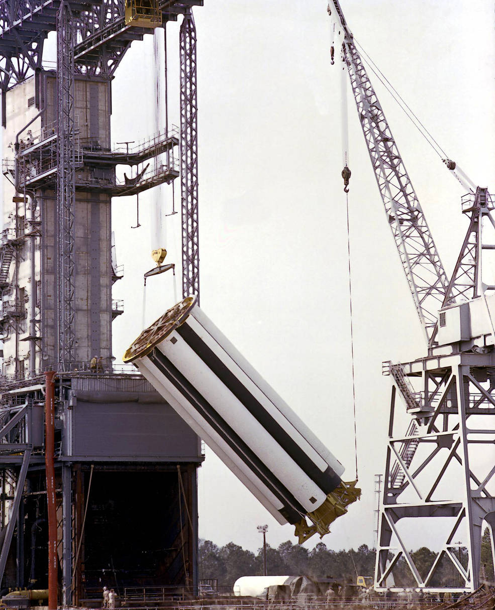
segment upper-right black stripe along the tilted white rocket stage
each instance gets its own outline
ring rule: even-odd
[[[291,456],[294,462],[306,473],[306,475],[317,484],[324,492],[330,493],[339,486],[341,478],[328,466],[325,471],[320,470],[313,460],[299,447],[297,442],[276,422],[262,404],[249,392],[249,390],[237,379],[234,373],[226,367],[220,358],[212,351],[203,339],[186,324],[176,329],[189,347],[201,358],[212,372],[223,382],[253,417],[266,429],[276,442]]]

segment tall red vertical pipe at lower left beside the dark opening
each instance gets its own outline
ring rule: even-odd
[[[57,610],[57,505],[55,501],[55,371],[45,373],[45,470],[48,504],[48,610]]]

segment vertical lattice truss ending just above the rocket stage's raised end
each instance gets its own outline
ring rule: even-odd
[[[200,298],[196,28],[187,10],[180,32],[182,296]]]

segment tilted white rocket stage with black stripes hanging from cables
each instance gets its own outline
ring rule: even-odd
[[[303,542],[347,512],[356,481],[187,297],[145,329],[124,356]],[[308,519],[310,524],[308,524]]]

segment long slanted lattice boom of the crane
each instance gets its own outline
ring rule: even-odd
[[[333,7],[328,5],[328,13],[333,18],[339,40],[342,41],[342,60],[349,71],[378,189],[429,345],[449,280],[377,94],[364,69],[353,35],[345,23],[342,9],[338,0],[332,0],[332,4]]]

